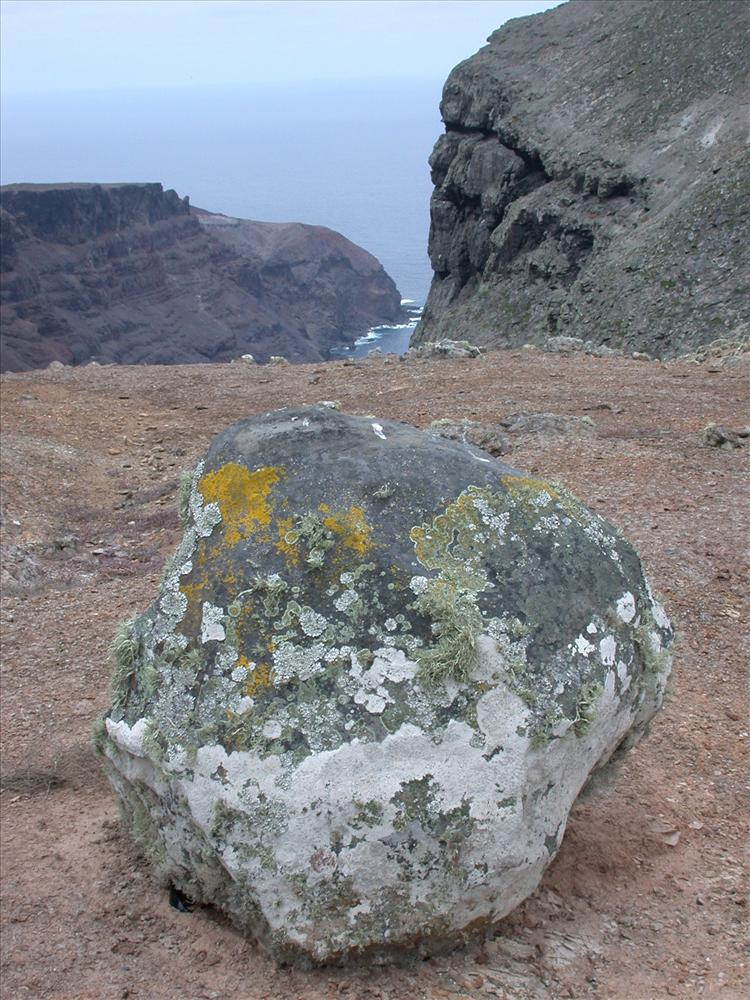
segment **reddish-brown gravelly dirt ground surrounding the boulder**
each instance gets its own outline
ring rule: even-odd
[[[2,604],[7,1000],[748,995],[750,444],[700,436],[709,421],[748,423],[747,367],[507,352],[87,367],[1,385],[4,541],[44,574]],[[651,735],[613,788],[576,804],[539,889],[484,945],[414,968],[279,970],[211,910],[170,908],[88,749],[115,625],[149,602],[180,534],[180,470],[227,423],[334,398],[421,426],[592,417],[595,435],[526,435],[508,461],[621,527],[681,633]]]

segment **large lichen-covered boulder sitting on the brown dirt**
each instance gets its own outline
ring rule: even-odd
[[[672,631],[559,486],[326,407],[221,433],[96,743],[155,869],[284,961],[434,952],[537,885]]]

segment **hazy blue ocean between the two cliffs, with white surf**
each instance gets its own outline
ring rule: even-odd
[[[0,181],[160,181],[211,212],[328,226],[375,254],[416,310],[432,276],[427,158],[442,131],[441,88],[4,97]],[[379,328],[351,353],[405,350],[414,322]]]

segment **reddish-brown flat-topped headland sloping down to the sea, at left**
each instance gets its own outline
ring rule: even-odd
[[[401,315],[379,262],[330,229],[215,215],[161,184],[1,194],[3,370],[317,361]]]

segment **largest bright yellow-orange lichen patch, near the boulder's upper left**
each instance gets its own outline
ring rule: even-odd
[[[218,504],[224,526],[224,543],[236,545],[271,523],[269,494],[283,470],[264,466],[250,472],[244,465],[227,462],[207,472],[198,483],[206,503]]]

